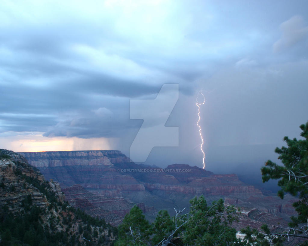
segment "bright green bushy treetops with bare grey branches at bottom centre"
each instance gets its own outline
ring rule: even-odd
[[[222,199],[208,206],[203,196],[190,203],[187,214],[182,215],[183,209],[170,217],[166,210],[161,210],[152,224],[134,206],[119,226],[115,245],[245,245],[236,239],[236,230],[230,227],[237,220],[234,207],[226,207]]]

